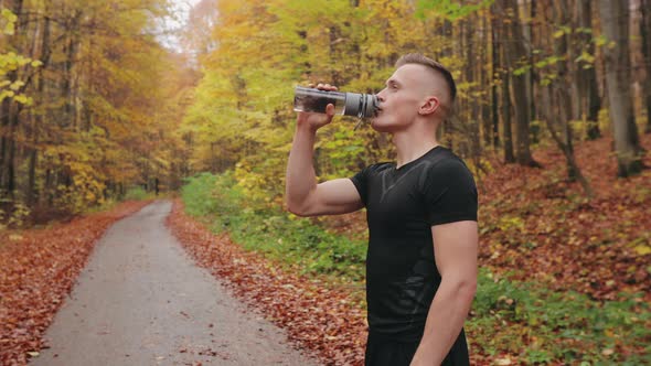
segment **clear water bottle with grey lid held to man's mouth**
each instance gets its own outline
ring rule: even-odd
[[[294,110],[324,114],[326,107],[334,105],[335,115],[359,118],[374,117],[380,107],[373,94],[326,92],[297,86],[294,92]]]

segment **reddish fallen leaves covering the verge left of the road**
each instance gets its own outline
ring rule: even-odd
[[[67,224],[0,234],[0,364],[25,365],[46,348],[41,338],[93,250],[116,220],[147,202]]]

